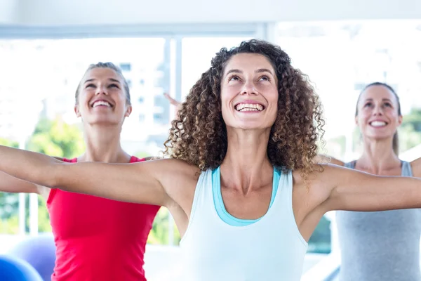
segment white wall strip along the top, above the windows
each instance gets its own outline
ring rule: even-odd
[[[421,18],[420,0],[1,0],[0,24],[18,1],[18,23],[39,26]]]

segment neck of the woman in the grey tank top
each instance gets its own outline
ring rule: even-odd
[[[359,165],[373,174],[401,165],[401,160],[392,148],[393,138],[385,140],[364,139],[364,150]]]

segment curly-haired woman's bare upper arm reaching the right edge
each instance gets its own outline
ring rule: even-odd
[[[326,165],[321,183],[328,190],[326,211],[383,211],[421,207],[421,179],[375,176]]]

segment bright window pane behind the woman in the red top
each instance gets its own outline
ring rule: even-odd
[[[168,67],[162,67],[165,43],[162,38],[1,40],[0,142],[18,146],[29,140],[31,150],[79,156],[83,137],[74,95],[88,65],[101,61],[121,67],[130,86],[133,112],[123,125],[123,148],[131,155],[157,155],[169,123],[162,95],[169,86],[163,72]],[[67,141],[58,143],[51,132],[63,133]],[[0,233],[18,232],[17,198],[0,192]],[[44,202],[39,208],[39,231],[50,231]]]

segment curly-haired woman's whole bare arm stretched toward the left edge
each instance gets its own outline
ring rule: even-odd
[[[133,164],[61,162],[36,152],[0,145],[0,171],[24,181],[109,199],[166,206],[164,186],[179,183],[192,172],[176,159]]]

